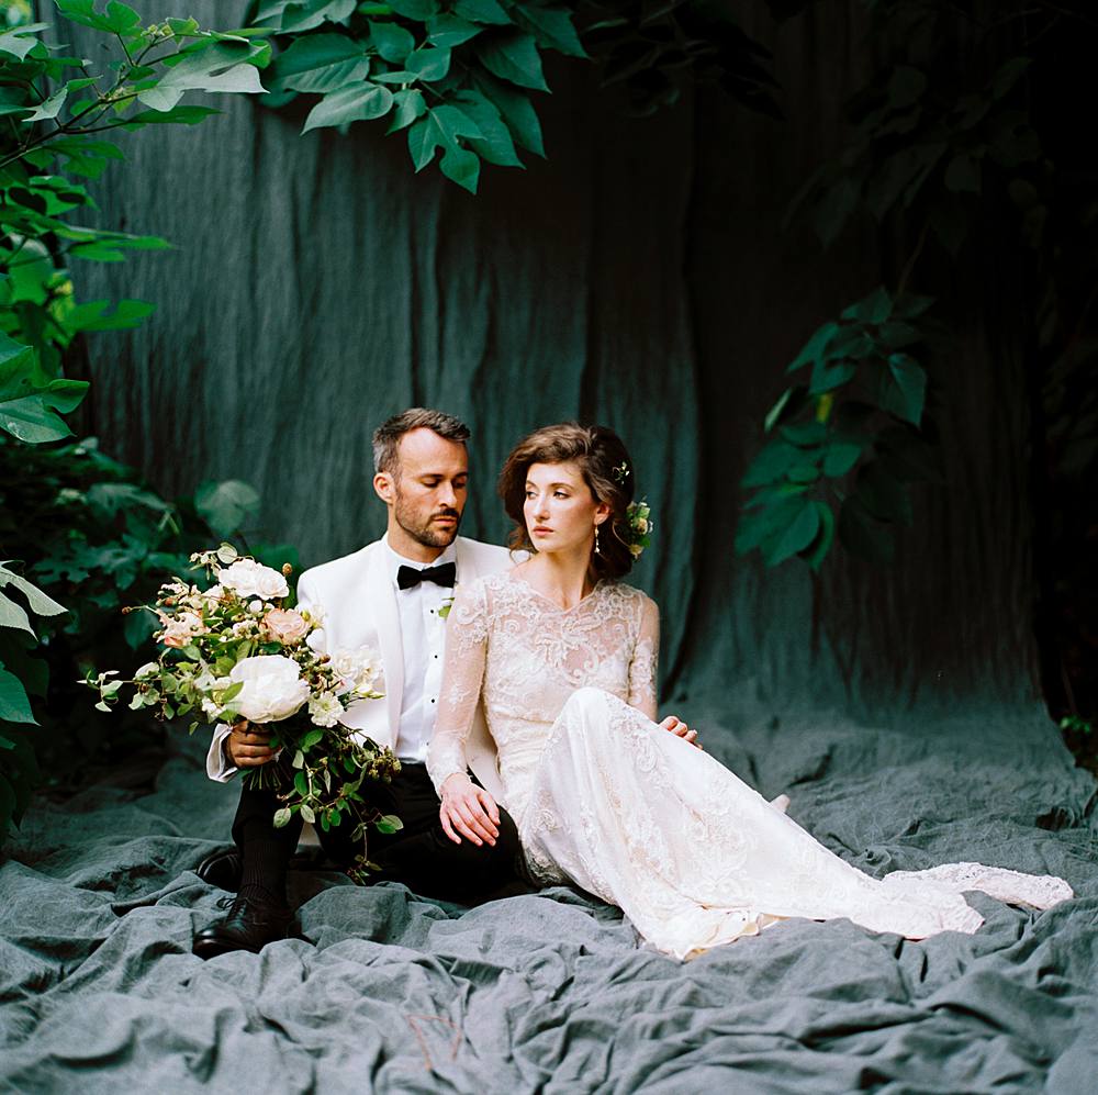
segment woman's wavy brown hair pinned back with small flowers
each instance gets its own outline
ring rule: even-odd
[[[581,426],[562,422],[542,426],[524,437],[507,457],[500,472],[497,490],[507,516],[515,523],[511,533],[512,550],[536,552],[526,528],[523,506],[526,479],[534,463],[575,463],[596,502],[605,502],[610,515],[598,526],[598,552],[591,563],[596,578],[617,579],[629,573],[632,554],[626,543],[626,507],[632,501],[632,460],[621,438],[607,426]]]

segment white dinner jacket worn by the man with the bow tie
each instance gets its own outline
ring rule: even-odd
[[[455,549],[458,590],[464,582],[507,570],[519,561],[518,552],[513,558],[504,547],[463,536],[457,538]],[[374,688],[384,693],[384,699],[355,704],[341,722],[361,730],[378,745],[392,749],[399,736],[403,706],[404,652],[396,591],[384,540],[374,540],[351,555],[306,570],[298,582],[298,606],[320,608],[323,614],[321,630],[310,639],[315,648],[334,652],[370,647],[380,655],[383,681]],[[424,657],[427,657],[426,650]],[[225,767],[222,752],[222,741],[227,734],[228,727],[217,727],[206,758],[208,774],[222,782],[235,772]],[[502,801],[495,742],[488,731],[480,704],[469,737],[468,759],[484,789],[496,801]]]

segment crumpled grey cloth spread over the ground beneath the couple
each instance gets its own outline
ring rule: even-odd
[[[191,936],[224,895],[193,868],[236,795],[188,740],[153,793],[40,804],[8,849],[0,1090],[1094,1090],[1095,782],[1039,712],[978,735],[687,714],[870,872],[975,859],[1078,896],[1034,914],[974,895],[978,934],[920,943],[789,920],[680,963],[568,889],[466,910],[295,872],[305,939],[202,962]]]

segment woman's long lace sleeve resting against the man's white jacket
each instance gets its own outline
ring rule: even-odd
[[[446,653],[438,717],[427,749],[427,774],[441,795],[442,782],[464,772],[488,653],[488,594],[482,582],[460,590],[446,617]]]

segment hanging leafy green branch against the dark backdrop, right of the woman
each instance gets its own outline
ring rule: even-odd
[[[911,523],[909,484],[941,478],[926,420],[927,372],[916,354],[931,301],[884,289],[824,324],[789,365],[808,373],[766,415],[771,439],[748,467],[753,493],[736,537],[768,566],[795,555],[819,568],[838,528],[843,547],[876,562],[890,529]]]

